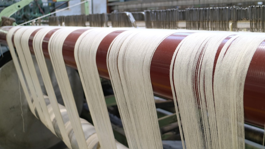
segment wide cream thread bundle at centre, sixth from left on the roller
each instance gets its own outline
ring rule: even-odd
[[[150,79],[152,55],[174,31],[125,31],[112,42],[107,66],[130,148],[162,148]]]

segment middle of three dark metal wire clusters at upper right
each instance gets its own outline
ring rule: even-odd
[[[247,9],[239,7],[215,7],[186,9],[187,29],[229,31],[229,22],[232,22],[232,31],[237,31],[237,21],[247,20]]]

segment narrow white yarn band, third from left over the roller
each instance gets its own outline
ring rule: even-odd
[[[58,27],[56,27],[58,28]],[[69,141],[69,137],[68,134],[66,133],[65,130],[65,125],[61,116],[61,112],[60,112],[60,108],[58,106],[58,102],[57,102],[57,98],[53,89],[53,85],[49,76],[49,71],[45,62],[45,57],[42,51],[42,42],[43,39],[45,37],[45,35],[47,33],[49,33],[49,31],[56,29],[55,27],[45,27],[43,29],[40,29],[34,36],[33,39],[33,49],[34,49],[34,53],[36,56],[36,60],[38,62],[38,66],[40,68],[40,72],[42,75],[42,79],[45,85],[45,89],[46,92],[49,96],[49,101],[51,103],[53,112],[54,112],[54,116],[56,118],[59,130],[61,132],[61,136],[63,141],[65,142],[65,144],[67,145],[67,147],[72,148],[71,147],[71,143]],[[52,119],[53,120],[53,119]]]

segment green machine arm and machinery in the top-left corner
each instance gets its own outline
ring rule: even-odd
[[[17,25],[29,20],[41,17],[54,12],[58,8],[67,7],[68,1],[52,0],[21,0],[21,1],[2,1],[0,5],[4,6],[0,12],[1,26]],[[43,18],[46,23],[48,19]]]

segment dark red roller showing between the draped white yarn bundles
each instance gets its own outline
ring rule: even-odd
[[[12,28],[12,26],[4,26],[0,28],[0,43],[7,45],[6,43],[6,33]],[[59,29],[59,27],[58,27]],[[64,41],[63,46],[63,57],[65,64],[77,69],[76,62],[74,59],[74,46],[78,37],[87,29],[78,29],[73,31]],[[56,31],[54,29],[45,35],[42,43],[43,53],[46,58],[49,58],[48,43],[51,35]],[[117,35],[125,30],[117,30],[109,33],[99,45],[97,49],[97,68],[99,75],[102,78],[109,79],[109,73],[107,69],[107,51],[111,42]],[[32,41],[34,35],[38,30],[34,31],[29,40],[29,46],[31,53],[34,54],[32,47]],[[172,91],[169,80],[169,69],[173,53],[178,46],[178,44],[188,35],[192,33],[173,33],[168,36],[160,43],[157,47],[151,62],[151,81],[153,92],[155,95],[173,100]],[[227,37],[219,45],[221,50],[223,45],[231,37]],[[220,51],[219,51],[220,52]],[[219,53],[216,53],[216,60]],[[215,61],[216,62],[216,61]],[[215,64],[214,64],[215,65]],[[213,72],[214,73],[214,72]],[[263,41],[251,60],[250,66],[248,68],[247,77],[244,85],[244,117],[245,122],[259,127],[264,127],[265,123],[265,41]]]

